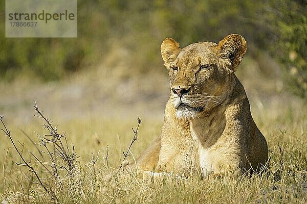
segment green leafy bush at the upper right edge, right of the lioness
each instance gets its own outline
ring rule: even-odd
[[[305,1],[270,1],[266,13],[271,22],[265,40],[269,52],[280,62],[289,90],[307,96],[307,4]]]

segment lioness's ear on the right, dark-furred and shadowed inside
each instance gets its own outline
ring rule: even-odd
[[[218,42],[217,50],[220,52],[221,57],[230,60],[231,66],[229,68],[232,71],[235,71],[236,67],[241,63],[242,58],[246,53],[247,43],[242,36],[238,34],[231,34]]]

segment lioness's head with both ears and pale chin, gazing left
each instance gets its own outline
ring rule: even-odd
[[[246,53],[246,40],[237,34],[218,44],[199,42],[180,48],[166,38],[161,55],[170,77],[170,101],[179,118],[194,118],[211,110],[229,97],[234,71]]]

